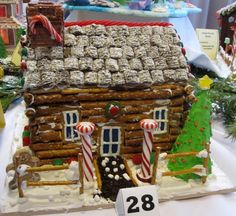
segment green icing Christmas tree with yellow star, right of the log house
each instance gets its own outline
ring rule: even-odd
[[[182,133],[177,138],[171,153],[205,152],[207,154],[211,137],[211,101],[208,96],[208,89],[210,88],[211,83],[212,80],[209,79],[207,75],[200,79],[199,84],[201,90],[197,95],[197,101],[193,104]],[[168,162],[168,168],[171,171],[190,169],[203,165],[204,158],[201,156],[179,157],[170,159]],[[209,160],[207,173],[210,173],[210,170],[211,161]],[[179,175],[176,177],[185,181],[201,178],[200,175],[194,173]]]

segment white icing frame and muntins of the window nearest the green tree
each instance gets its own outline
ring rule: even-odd
[[[161,118],[161,112],[162,111],[165,111],[165,116],[164,118],[162,119]],[[156,118],[156,112],[159,111],[159,118]],[[155,119],[157,122],[158,122],[158,128],[156,130],[154,130],[154,133],[153,134],[164,134],[164,133],[167,133],[167,128],[168,128],[168,108],[167,106],[163,106],[163,107],[158,107],[158,108],[155,108],[153,110],[153,119]],[[164,129],[161,130],[161,123],[164,123]]]

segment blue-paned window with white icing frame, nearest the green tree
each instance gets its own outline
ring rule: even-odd
[[[158,128],[154,134],[163,134],[167,132],[168,126],[168,109],[167,107],[155,108],[153,112],[153,119],[158,122]]]

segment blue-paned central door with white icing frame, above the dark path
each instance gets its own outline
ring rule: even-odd
[[[101,155],[117,155],[120,152],[120,127],[103,127],[101,134]]]

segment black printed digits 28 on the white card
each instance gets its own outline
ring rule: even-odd
[[[155,204],[152,202],[153,197],[150,194],[145,194],[141,197],[142,201],[142,209],[144,211],[151,211],[155,208]],[[139,207],[135,207],[138,203],[138,198],[135,196],[129,196],[126,199],[126,202],[131,202],[129,208],[128,208],[128,213],[137,213],[139,212]]]

